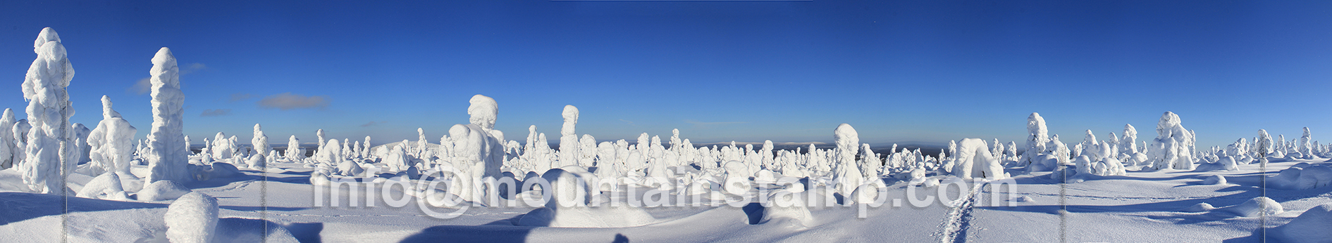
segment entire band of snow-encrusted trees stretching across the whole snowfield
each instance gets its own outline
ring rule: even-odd
[[[35,52],[37,58],[23,84],[24,98],[29,101],[28,118],[16,120],[9,109],[0,117],[0,127],[4,127],[0,129],[0,169],[21,170],[24,183],[35,193],[69,191],[64,186],[69,173],[97,177],[97,187],[81,190],[96,198],[131,198],[125,195],[135,195],[143,189],[177,189],[180,183],[238,175],[240,169],[265,171],[272,163],[304,163],[316,167],[310,178],[314,185],[341,177],[365,177],[368,173],[410,179],[456,178],[449,193],[473,202],[486,194],[486,190],[473,190],[482,186],[474,182],[486,178],[545,178],[551,171],[615,182],[586,189],[591,194],[606,186],[683,183],[689,185],[687,189],[702,189],[733,182],[775,182],[789,177],[806,178],[802,182],[810,183],[806,186],[834,186],[838,194],[855,194],[854,201],[866,195],[856,194],[859,187],[882,187],[883,178],[912,183],[923,183],[931,174],[1002,179],[1010,177],[1006,169],[1054,171],[1054,175],[1066,178],[1167,169],[1237,170],[1239,165],[1328,158],[1332,154],[1332,146],[1312,141],[1308,127],[1297,139],[1285,141],[1284,135],[1273,139],[1259,130],[1252,142],[1240,138],[1224,149],[1199,150],[1195,133],[1184,129],[1179,116],[1169,112],[1158,122],[1156,137],[1140,143],[1138,130],[1124,125],[1123,134],[1110,133],[1108,139],[1098,139],[1087,130],[1082,142],[1071,145],[1062,142],[1058,134],[1048,134],[1044,118],[1032,113],[1027,118],[1028,139],[1020,154],[1015,142],[978,138],[950,141],[938,157],[926,155],[919,149],[899,150],[896,145],[887,154],[876,154],[868,143],[860,143],[858,133],[847,123],[832,130],[835,147],[830,149],[811,143],[809,149],[775,150],[771,141],[758,147],[753,143],[738,146],[735,142],[729,146],[695,146],[689,138],[682,138],[679,130],[673,130],[665,141],[643,133],[635,142],[598,142],[590,134],[577,133],[579,112],[573,105],[563,108],[565,123],[557,149],[549,146],[546,134],[537,133],[535,126],[527,129],[522,142],[505,139],[503,133],[494,129],[498,104],[481,94],[469,101],[469,123],[450,126],[438,143],[429,142],[422,129],[417,129],[416,142],[404,139],[377,147],[370,145],[370,137],[340,141],[326,138],[324,130],[317,130],[317,146],[313,155],[306,157],[308,151],[296,135],[290,135],[285,150],[272,149],[268,135],[256,123],[249,146],[240,143],[234,135],[217,133],[212,139],[202,139],[200,153],[192,153],[181,131],[184,94],[170,49],[161,48],[151,60],[153,123],[147,139],[137,142],[133,138],[137,129],[112,109],[107,96],[101,100],[103,121],[95,129],[69,123],[73,109],[65,89],[73,77],[73,68],[53,29],[41,31]],[[141,170],[135,170],[136,166]],[[428,173],[440,170],[446,173]]]

